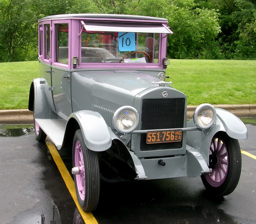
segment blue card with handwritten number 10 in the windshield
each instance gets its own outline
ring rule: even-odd
[[[118,33],[118,49],[119,51],[135,51],[135,33]]]

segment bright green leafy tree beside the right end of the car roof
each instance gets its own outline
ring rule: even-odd
[[[198,8],[194,0],[140,0],[132,12],[168,19],[174,32],[168,36],[170,58],[221,57],[215,40],[220,32],[215,9]]]

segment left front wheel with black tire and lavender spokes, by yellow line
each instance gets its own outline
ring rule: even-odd
[[[84,211],[93,211],[100,196],[99,159],[86,147],[80,129],[73,139],[73,167],[80,167],[79,174],[74,175],[77,200]]]

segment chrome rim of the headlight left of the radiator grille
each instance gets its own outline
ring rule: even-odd
[[[133,114],[135,116],[135,123],[133,124],[133,126],[130,129],[122,129],[118,125],[118,116],[121,112],[124,112],[124,111],[131,111],[131,112],[133,112]],[[118,108],[116,110],[116,112],[114,113],[114,116],[113,116],[113,125],[114,125],[115,129],[120,133],[131,133],[131,132],[133,132],[137,128],[137,126],[139,125],[139,113],[138,113],[138,111],[132,106],[122,106],[122,107]]]

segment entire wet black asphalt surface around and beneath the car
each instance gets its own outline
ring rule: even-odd
[[[256,126],[241,149],[256,155]],[[45,144],[32,126],[0,125],[0,224],[82,223]],[[18,137],[14,137],[18,136]],[[70,152],[59,151],[66,167]],[[216,199],[201,178],[101,184],[99,224],[256,224],[256,160],[242,154],[234,192]]]

